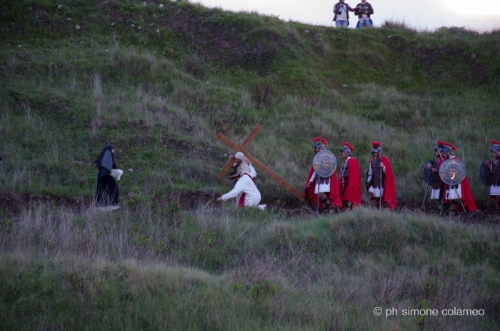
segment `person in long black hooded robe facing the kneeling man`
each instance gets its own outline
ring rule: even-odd
[[[114,147],[112,145],[106,145],[106,147],[101,150],[99,157],[94,161],[98,170],[96,192],[97,207],[116,206],[120,202],[118,185],[114,178],[111,177],[111,171],[116,169],[113,154]]]

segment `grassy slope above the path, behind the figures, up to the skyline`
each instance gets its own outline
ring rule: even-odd
[[[429,129],[459,147],[476,199],[484,126],[499,138],[499,31],[354,31],[169,1],[6,1],[1,24],[1,185],[89,199],[104,144],[134,174],[122,192],[222,190],[229,150],[256,122],[250,152],[296,187],[323,134],[364,169],[380,139],[400,202],[423,195]],[[159,5],[164,6],[160,7]],[[78,29],[77,29],[78,28]],[[266,199],[286,194],[261,177]]]

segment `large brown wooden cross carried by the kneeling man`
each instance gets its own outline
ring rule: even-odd
[[[279,186],[283,187],[286,189],[288,192],[291,194],[294,194],[294,196],[301,200],[301,202],[306,203],[306,199],[304,199],[304,195],[302,192],[300,192],[298,189],[294,187],[294,185],[290,184],[289,182],[286,182],[285,179],[279,177],[279,174],[276,174],[276,172],[273,172],[269,167],[266,166],[266,164],[260,162],[258,159],[256,159],[253,155],[251,155],[249,152],[246,152],[246,148],[249,147],[252,141],[254,141],[255,137],[257,137],[257,134],[261,131],[262,126],[261,124],[257,123],[257,125],[254,127],[254,129],[251,130],[250,134],[244,142],[238,146],[236,142],[233,142],[231,139],[226,137],[224,134],[219,132],[217,134],[217,139],[219,139],[223,144],[225,144],[227,147],[232,149],[235,153],[236,152],[242,152],[245,154],[245,156],[250,160],[251,164],[257,167],[261,172],[264,172],[267,176],[269,176],[271,179],[274,180],[274,182],[278,183]],[[224,164],[224,167],[221,169],[219,174],[217,174],[217,177],[219,178],[224,178],[229,172],[229,169],[233,167],[234,159],[229,159],[226,164]]]

